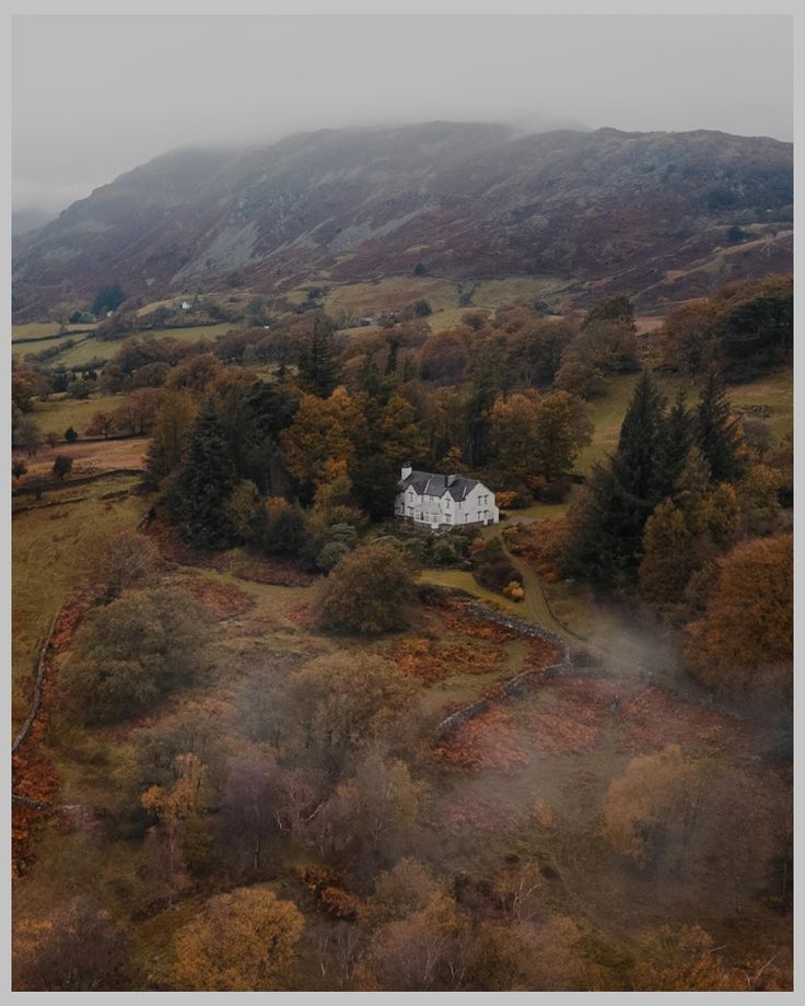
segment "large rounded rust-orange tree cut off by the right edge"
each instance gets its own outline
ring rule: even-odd
[[[738,545],[719,560],[704,617],[688,627],[688,660],[709,688],[789,702],[792,687],[791,535]]]

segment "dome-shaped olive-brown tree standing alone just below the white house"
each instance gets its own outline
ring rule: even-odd
[[[318,596],[316,615],[330,632],[393,632],[408,623],[412,600],[413,575],[398,549],[365,545],[336,564]]]

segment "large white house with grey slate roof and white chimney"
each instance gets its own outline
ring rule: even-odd
[[[494,493],[483,482],[460,475],[415,471],[410,465],[402,466],[394,512],[432,530],[500,520]]]

